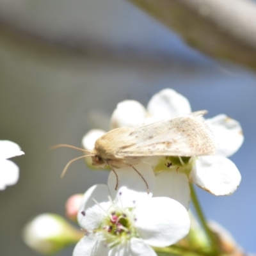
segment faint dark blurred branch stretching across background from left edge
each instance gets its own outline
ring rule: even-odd
[[[141,68],[147,70],[166,71],[170,68],[188,67],[191,70],[191,63],[188,60],[180,60],[173,54],[166,54],[164,51],[145,51],[138,47],[116,49],[112,45],[99,44],[97,42],[81,42],[75,47],[65,45],[61,42],[49,42],[45,38],[32,35],[13,26],[9,26],[0,20],[0,58],[3,54],[12,52],[19,58],[25,58],[49,65],[59,65],[61,61],[92,61],[97,65],[118,65],[119,67]],[[92,65],[92,64],[91,64]],[[194,63],[193,68],[202,64]]]

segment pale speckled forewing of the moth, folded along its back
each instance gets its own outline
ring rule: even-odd
[[[117,156],[204,156],[215,152],[215,143],[202,116],[177,116],[138,127],[131,133],[136,145]]]

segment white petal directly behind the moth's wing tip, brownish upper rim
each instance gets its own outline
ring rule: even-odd
[[[239,122],[223,114],[207,119],[206,122],[214,133],[216,154],[228,157],[236,153],[244,141]]]

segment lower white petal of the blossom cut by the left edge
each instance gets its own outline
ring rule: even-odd
[[[9,160],[0,160],[0,190],[11,186],[19,180],[19,167]]]

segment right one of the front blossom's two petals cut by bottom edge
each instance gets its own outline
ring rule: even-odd
[[[157,256],[156,252],[142,239],[132,238],[125,244],[118,244],[109,252],[109,256]]]

